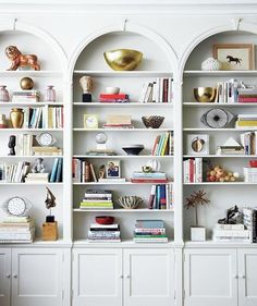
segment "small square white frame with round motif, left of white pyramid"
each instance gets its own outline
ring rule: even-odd
[[[209,135],[188,134],[186,148],[187,155],[209,155]]]

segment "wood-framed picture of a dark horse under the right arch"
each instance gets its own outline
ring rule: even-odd
[[[255,47],[250,44],[215,44],[213,58],[222,70],[254,70]]]

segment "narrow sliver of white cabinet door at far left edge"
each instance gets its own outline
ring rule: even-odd
[[[0,305],[10,306],[11,249],[0,248]]]

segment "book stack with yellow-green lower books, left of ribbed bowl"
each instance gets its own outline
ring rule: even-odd
[[[88,189],[81,201],[81,209],[113,209],[111,191]]]

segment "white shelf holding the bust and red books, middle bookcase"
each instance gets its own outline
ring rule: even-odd
[[[127,102],[127,103],[118,103],[118,102],[90,102],[90,103],[85,103],[85,102],[74,102],[74,107],[97,107],[97,108],[172,108],[173,103],[139,103],[139,102]]]

